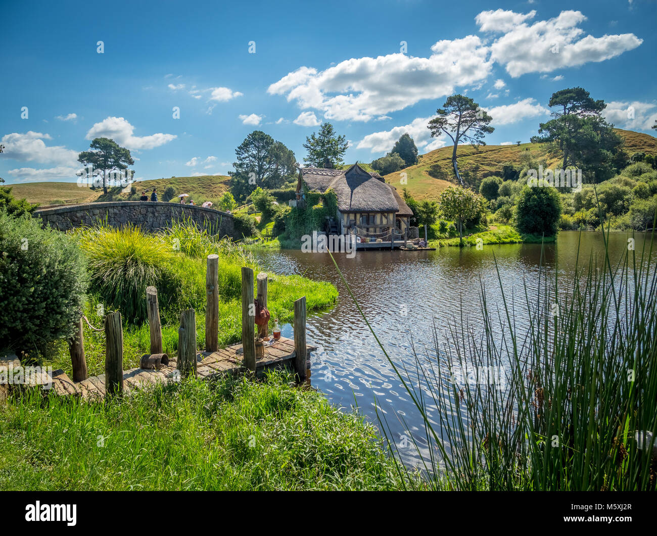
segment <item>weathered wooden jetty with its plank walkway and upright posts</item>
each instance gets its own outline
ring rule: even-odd
[[[294,339],[267,337],[267,326],[256,332],[254,307],[254,273],[242,268],[242,342],[225,348],[217,347],[218,315],[217,256],[208,256],[206,290],[206,348],[196,347],[196,319],[194,309],[181,313],[178,330],[178,352],[175,358],[162,353],[162,328],[156,288],[147,289],[148,323],[150,327],[150,354],[144,355],[141,365],[148,368],[123,370],[123,332],[120,313],[105,317],[106,337],[105,373],[87,377],[84,356],[82,319],[76,335],[70,340],[73,379],[63,370],[39,372],[33,385],[48,385],[58,395],[73,395],[83,399],[96,399],[124,395],[131,391],[152,387],[155,384],[178,382],[189,375],[214,378],[221,374],[253,374],[262,376],[267,369],[290,368],[300,382],[309,377],[309,355],[317,349],[306,344],[306,296],[294,302]],[[258,274],[260,303],[267,303],[267,274]],[[268,338],[269,340],[263,340]],[[258,354],[256,355],[256,347]],[[0,360],[0,367],[20,367],[15,356]],[[47,392],[47,391],[45,391]],[[3,393],[0,393],[2,395]]]

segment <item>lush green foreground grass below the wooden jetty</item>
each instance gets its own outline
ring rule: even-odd
[[[123,401],[0,406],[0,490],[398,489],[373,426],[289,376],[187,380]]]

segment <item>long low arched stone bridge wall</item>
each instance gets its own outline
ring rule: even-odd
[[[132,223],[143,231],[152,232],[171,227],[172,221],[192,221],[208,233],[234,236],[233,216],[196,205],[183,205],[164,201],[113,201],[78,205],[37,208],[35,217],[44,225],[59,231],[68,231],[81,225],[106,221],[111,227],[124,227]]]

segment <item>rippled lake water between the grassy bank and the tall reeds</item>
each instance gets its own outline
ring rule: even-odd
[[[628,237],[626,233],[610,235],[612,265],[627,251]],[[576,263],[581,269],[593,258],[600,265],[604,259],[602,235],[585,232],[579,240],[578,232],[569,231],[560,233],[556,244],[543,246],[542,252],[540,244],[503,244],[484,246],[483,250],[382,250],[357,252],[351,259],[345,254],[334,257],[392,361],[397,367],[412,370],[416,363],[413,348],[418,354],[436,355],[434,325],[439,348],[449,339],[449,326],[455,321],[461,323],[462,317],[475,329],[481,325],[482,287],[489,311],[501,307],[503,288],[516,322],[522,325],[528,318],[525,289],[535,296],[546,271],[554,279],[557,270],[558,277],[572,282]],[[635,240],[638,257],[643,236],[635,235]],[[426,449],[422,418],[363,321],[330,256],[296,250],[261,251],[257,256],[265,269],[327,280],[340,292],[330,311],[307,319],[307,340],[319,347],[311,356],[311,384],[338,407],[357,405],[377,426],[379,417],[384,416],[396,442],[413,435],[420,451]],[[291,326],[283,326],[283,336],[292,336]],[[413,381],[412,375],[409,379]],[[437,408],[429,405],[428,417],[438,426],[432,411]],[[419,462],[415,447],[403,452],[405,463]]]

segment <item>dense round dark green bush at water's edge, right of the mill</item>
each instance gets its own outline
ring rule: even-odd
[[[520,233],[556,235],[560,215],[561,200],[555,188],[545,183],[522,189],[516,206],[516,227]]]

